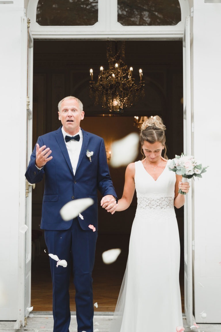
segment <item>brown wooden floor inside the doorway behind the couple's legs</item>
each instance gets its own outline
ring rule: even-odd
[[[105,265],[101,254],[112,248],[121,248],[122,252],[117,261]],[[97,239],[96,258],[93,270],[93,295],[94,303],[98,308],[94,311],[114,311],[122,279],[124,276],[129,247],[129,235],[100,234]],[[33,311],[52,311],[52,283],[49,267],[49,256],[41,248],[40,256],[34,259],[31,269],[31,306]],[[182,259],[181,259],[182,262]],[[183,267],[183,263],[181,263]],[[180,271],[180,286],[182,311],[184,312],[184,271]],[[76,311],[74,285],[70,283],[70,309]]]

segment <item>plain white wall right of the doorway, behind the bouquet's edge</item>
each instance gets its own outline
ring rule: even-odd
[[[194,155],[209,165],[194,183],[194,305],[196,322],[202,323],[221,323],[220,18],[221,4],[194,0],[193,147]],[[199,316],[203,310],[205,319]]]

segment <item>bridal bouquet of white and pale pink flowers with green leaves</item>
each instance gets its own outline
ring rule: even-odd
[[[193,156],[181,154],[181,156],[175,155],[175,158],[168,164],[170,171],[175,172],[177,175],[182,175],[182,182],[186,182],[185,179],[191,179],[193,176],[197,178],[202,177],[202,173],[206,172],[206,167],[202,167],[202,164],[195,160]],[[186,195],[181,189],[179,194]]]

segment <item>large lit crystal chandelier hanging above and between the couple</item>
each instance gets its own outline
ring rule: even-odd
[[[125,64],[125,41],[117,51],[115,42],[115,55],[112,43],[107,44],[108,69],[100,67],[98,80],[93,80],[93,69],[90,69],[90,97],[95,105],[101,105],[110,112],[120,113],[124,108],[131,107],[139,98],[144,97],[144,81],[142,69],[139,69],[140,81],[135,83],[133,68]]]

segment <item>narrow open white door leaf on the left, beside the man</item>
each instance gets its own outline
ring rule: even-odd
[[[29,20],[22,17],[22,70],[24,76],[21,85],[26,92],[26,166],[32,151],[32,77],[33,77],[33,38],[29,31]],[[25,103],[24,103],[25,105]],[[25,120],[24,120],[25,121]],[[31,299],[31,186],[26,181],[26,207],[25,224],[28,226],[25,237],[20,236],[19,241],[19,312],[14,329],[19,329],[26,324]]]

